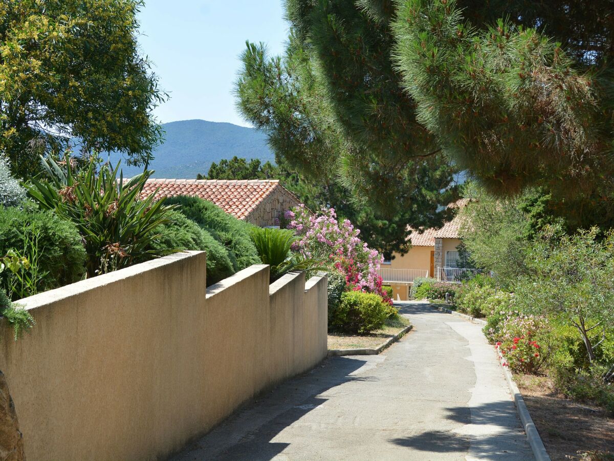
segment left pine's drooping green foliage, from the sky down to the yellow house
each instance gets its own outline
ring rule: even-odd
[[[297,29],[291,31],[282,57],[269,57],[263,44],[248,42],[236,82],[238,108],[267,133],[278,164],[285,162],[327,191],[323,204],[338,212],[346,208],[340,215],[357,224],[375,248],[405,252],[408,225],[441,226],[450,218],[440,205],[457,198],[456,170],[441,152],[411,157],[397,144],[400,159],[391,154],[395,143],[387,141],[383,148],[344,130],[317,60],[300,36]]]

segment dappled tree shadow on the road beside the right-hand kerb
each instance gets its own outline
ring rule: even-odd
[[[516,408],[510,401],[494,401],[473,407],[446,408],[446,419],[462,425],[472,424],[472,432],[430,430],[417,435],[391,439],[391,442],[433,453],[467,453],[484,459],[531,459],[526,435],[518,427]]]

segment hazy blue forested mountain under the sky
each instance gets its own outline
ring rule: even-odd
[[[155,159],[149,165],[155,170],[154,178],[195,179],[198,173],[206,175],[211,162],[231,159],[275,161],[266,145],[266,135],[254,128],[206,120],[182,120],[162,125],[166,131],[165,142],[153,152]],[[112,164],[122,160],[124,176],[133,176],[142,167],[127,167],[121,154],[112,153]]]

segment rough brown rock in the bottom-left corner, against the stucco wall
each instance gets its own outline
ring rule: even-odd
[[[19,431],[19,422],[15,404],[10,396],[9,385],[4,373],[0,371],[0,460],[23,461],[23,436]]]

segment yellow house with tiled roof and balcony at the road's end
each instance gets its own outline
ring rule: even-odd
[[[451,207],[464,207],[466,200],[459,200]],[[461,218],[457,215],[441,229],[427,229],[422,234],[410,230],[408,240],[411,249],[384,261],[379,274],[384,285],[392,286],[392,297],[400,301],[409,299],[411,284],[416,277],[433,277],[442,281],[455,281],[458,271],[458,250],[461,243],[459,229]]]

